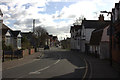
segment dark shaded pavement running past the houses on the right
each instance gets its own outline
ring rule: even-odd
[[[77,53],[79,54],[79,53]],[[109,78],[109,79],[119,79],[120,73],[117,72],[112,66],[110,66],[109,60],[101,60],[93,55],[80,53],[81,58],[85,58],[89,65],[89,79],[94,78]]]

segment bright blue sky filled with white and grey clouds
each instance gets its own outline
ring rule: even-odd
[[[59,40],[70,37],[70,26],[81,16],[98,20],[100,11],[111,11],[119,0],[0,0],[3,22],[13,30],[29,32],[44,27]],[[105,19],[110,16],[104,14]]]

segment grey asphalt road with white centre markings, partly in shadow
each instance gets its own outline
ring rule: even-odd
[[[3,78],[85,78],[86,62],[72,51],[51,48],[44,51],[42,58],[31,63],[6,69]]]

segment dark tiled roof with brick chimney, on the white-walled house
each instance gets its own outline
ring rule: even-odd
[[[85,26],[85,28],[101,28],[105,25],[110,24],[110,21],[99,21],[99,20],[83,20],[82,25]]]

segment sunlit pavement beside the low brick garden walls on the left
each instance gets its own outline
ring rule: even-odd
[[[33,62],[33,59],[35,60],[38,57],[42,57],[43,55],[44,55],[43,50],[41,50],[39,52],[36,52],[36,53],[31,54],[29,56],[25,56],[25,57],[20,58],[20,59],[14,59],[14,60],[11,60],[11,61],[3,62],[2,63],[2,70],[11,69],[11,68],[14,68],[14,67],[17,67],[17,66],[20,66],[20,65],[31,63],[31,62]]]

